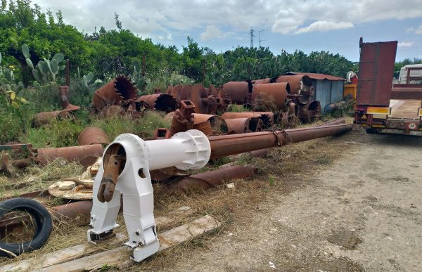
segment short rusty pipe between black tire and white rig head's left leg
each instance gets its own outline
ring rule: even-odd
[[[86,226],[89,224],[91,216],[92,201],[83,200],[56,206],[50,209],[54,219],[66,221],[77,226]]]

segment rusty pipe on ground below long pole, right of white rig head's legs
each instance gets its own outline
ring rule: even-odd
[[[188,176],[180,181],[165,183],[158,188],[158,193],[161,195],[172,195],[177,192],[184,192],[186,190],[203,189],[207,190],[219,186],[225,181],[233,179],[244,179],[255,173],[255,167],[240,166],[225,167],[213,171]]]

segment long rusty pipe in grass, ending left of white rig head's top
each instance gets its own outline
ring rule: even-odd
[[[38,148],[35,150],[34,160],[38,164],[45,165],[51,160],[63,157],[65,160],[77,161],[84,167],[89,167],[103,155],[103,152],[101,144],[68,146],[66,148]]]

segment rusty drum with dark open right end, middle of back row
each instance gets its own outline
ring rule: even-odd
[[[227,82],[219,90],[219,97],[226,98],[226,95],[234,104],[250,103],[248,97],[252,93],[252,83],[250,82]]]

